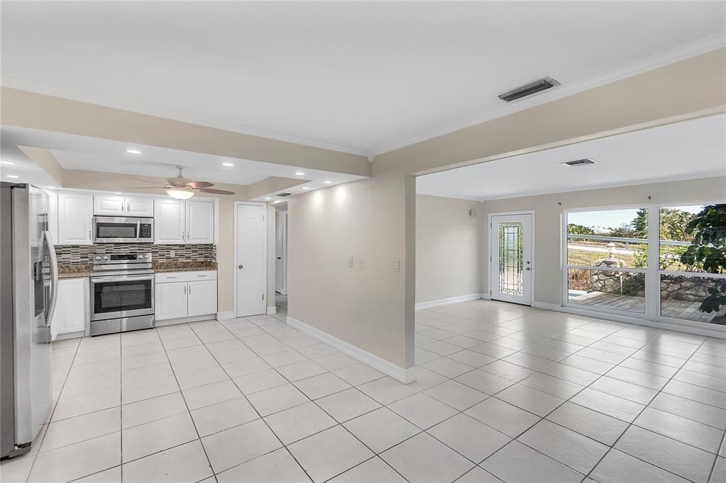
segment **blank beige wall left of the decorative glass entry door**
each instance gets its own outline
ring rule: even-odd
[[[476,201],[416,195],[416,303],[481,294],[482,211]]]

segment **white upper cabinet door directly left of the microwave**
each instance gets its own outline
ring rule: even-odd
[[[59,245],[90,245],[93,197],[90,194],[58,194]]]

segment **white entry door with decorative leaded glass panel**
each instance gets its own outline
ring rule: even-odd
[[[492,300],[532,305],[532,215],[494,215],[489,230]]]

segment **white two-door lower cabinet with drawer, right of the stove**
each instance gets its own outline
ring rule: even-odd
[[[158,273],[154,286],[155,319],[216,314],[216,278],[216,271]]]

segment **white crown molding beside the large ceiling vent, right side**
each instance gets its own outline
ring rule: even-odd
[[[527,110],[531,107],[554,101],[555,99],[561,99],[595,87],[604,86],[605,84],[615,82],[616,80],[645,73],[648,72],[648,70],[664,67],[665,65],[673,64],[674,62],[688,59],[689,57],[696,57],[697,55],[705,54],[706,52],[721,49],[723,47],[726,47],[726,33],[717,33],[690,44],[685,44],[651,57],[645,57],[645,59],[640,59],[636,62],[621,65],[620,67],[605,71],[604,73],[592,75],[573,84],[557,86],[544,91],[541,94],[536,94],[529,99],[514,101],[502,106],[500,109],[489,111],[475,117],[470,117],[467,120],[460,121],[459,123],[447,125],[443,128],[435,129],[428,133],[405,139],[404,141],[399,141],[397,143],[388,144],[388,146],[373,149],[371,154],[373,156],[380,156],[380,154],[395,151],[396,149],[411,146],[412,144],[417,144],[422,141],[428,141],[428,139],[444,136],[444,134],[453,133],[454,131],[460,131],[461,129],[485,123],[486,121],[496,119],[497,117],[503,117],[505,115],[513,114],[514,112]]]

